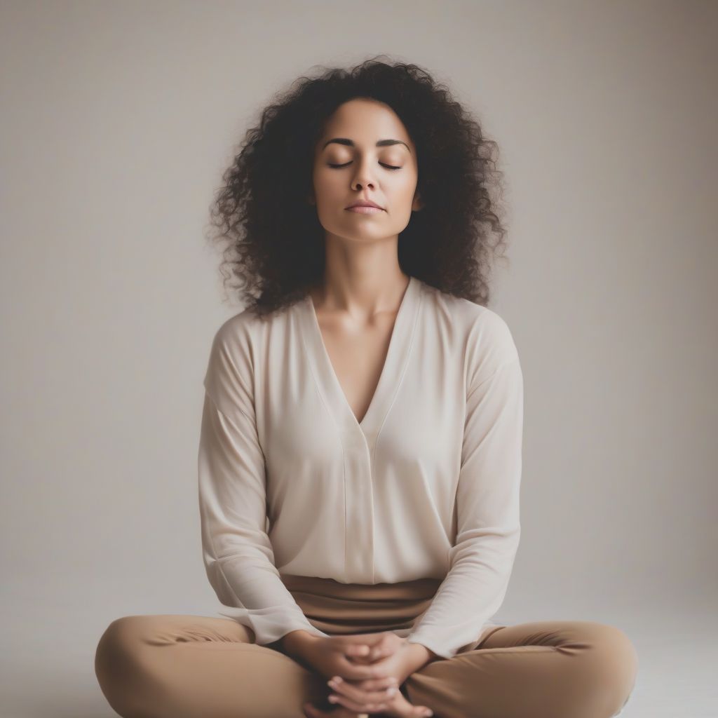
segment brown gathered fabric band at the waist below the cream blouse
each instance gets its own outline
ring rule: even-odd
[[[310,623],[329,634],[411,628],[432,602],[442,579],[344,584],[313,576],[281,575]]]

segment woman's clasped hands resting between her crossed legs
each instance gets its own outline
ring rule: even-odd
[[[362,713],[394,718],[431,716],[430,709],[412,705],[399,690],[419,668],[411,645],[391,631],[317,638],[307,658],[330,679],[327,685],[333,692],[329,700],[340,708],[324,712],[307,703],[305,714],[309,718],[355,718]]]

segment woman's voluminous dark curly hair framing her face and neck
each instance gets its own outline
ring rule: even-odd
[[[312,192],[314,147],[325,122],[353,98],[372,98],[404,123],[417,152],[424,203],[398,237],[401,269],[442,292],[488,304],[491,261],[503,256],[498,146],[419,65],[377,55],[350,70],[321,67],[276,93],[248,129],[210,208],[220,273],[235,276],[248,309],[265,315],[322,281],[325,230]],[[492,190],[494,190],[492,192]]]

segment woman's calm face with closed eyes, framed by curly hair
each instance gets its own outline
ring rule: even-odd
[[[416,148],[391,108],[356,98],[329,118],[314,149],[312,171],[317,216],[327,233],[353,241],[398,236],[412,210],[421,208],[417,180]],[[364,200],[382,210],[347,209]]]

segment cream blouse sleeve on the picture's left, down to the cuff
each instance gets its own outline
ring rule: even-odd
[[[222,330],[213,341],[202,409],[198,490],[208,579],[233,618],[265,645],[314,628],[284,586],[266,533],[266,462],[258,442],[249,353]],[[230,350],[230,346],[232,349]]]

